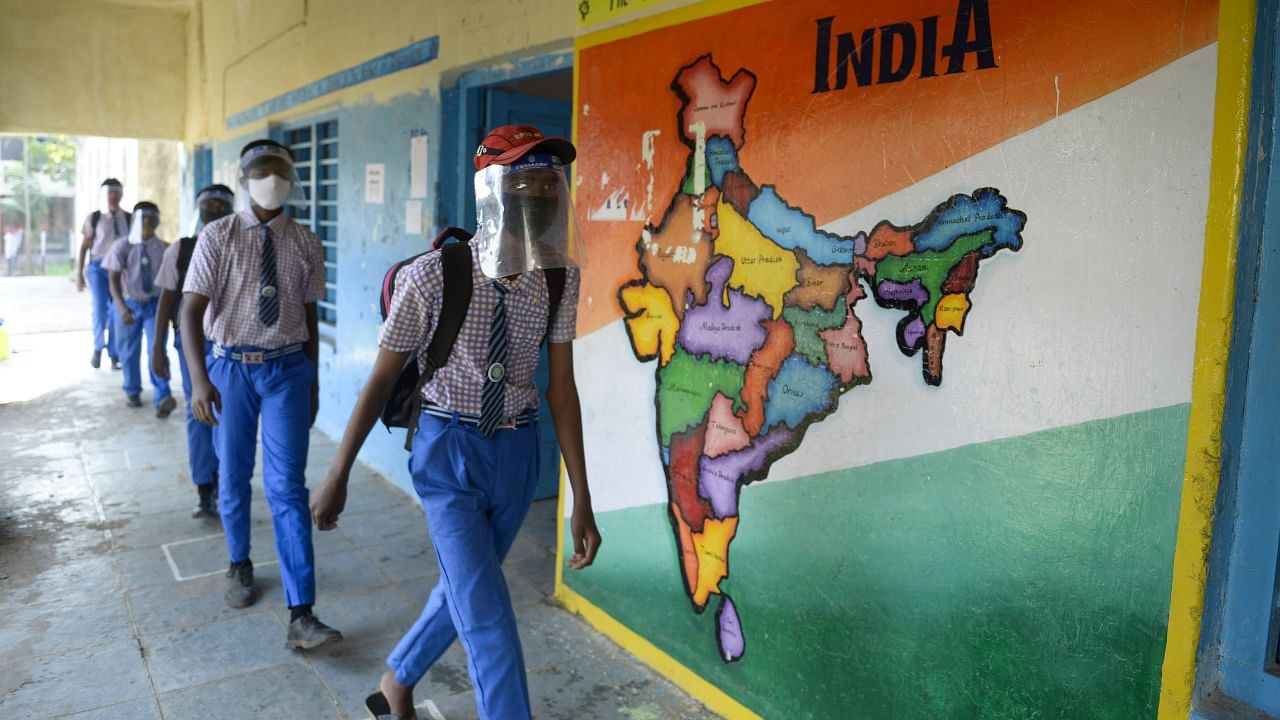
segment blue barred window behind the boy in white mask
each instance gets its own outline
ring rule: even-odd
[[[338,120],[284,128],[307,201],[289,205],[289,217],[311,228],[324,246],[325,297],[320,322],[338,324]]]

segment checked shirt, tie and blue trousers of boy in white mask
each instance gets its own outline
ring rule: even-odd
[[[209,297],[209,379],[221,395],[214,447],[219,510],[232,562],[250,556],[250,478],[262,419],[262,480],[289,607],[315,602],[306,488],[315,363],[303,352],[306,309],[325,293],[320,240],[284,213],[262,224],[252,210],[210,223],[184,292]]]

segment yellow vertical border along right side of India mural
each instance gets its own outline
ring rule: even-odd
[[[1213,159],[1210,167],[1204,268],[1196,320],[1196,368],[1187,432],[1183,498],[1174,550],[1169,632],[1160,683],[1161,720],[1190,715],[1196,685],[1196,651],[1213,505],[1221,470],[1222,407],[1226,397],[1228,347],[1235,302],[1235,254],[1248,140],[1249,82],[1253,63],[1254,0],[1221,0],[1217,24],[1217,99],[1213,111]]]

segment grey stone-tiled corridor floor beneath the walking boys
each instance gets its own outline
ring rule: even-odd
[[[0,316],[17,333],[0,363],[0,719],[366,717],[365,696],[438,575],[417,503],[357,468],[339,529],[315,533],[316,614],[347,639],[285,650],[260,478],[262,596],[232,610],[220,524],[191,518],[180,410],[156,419],[150,388],[146,407],[125,407],[120,374],[87,364],[76,319],[87,313],[65,279],[0,279]],[[334,447],[312,434],[310,484]],[[714,717],[549,597],[554,515],[553,501],[536,503],[506,564],[535,716]],[[416,698],[424,720],[475,717],[457,643]]]

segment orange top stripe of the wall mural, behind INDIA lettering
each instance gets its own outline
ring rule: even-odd
[[[774,1],[581,49],[576,204],[590,265],[580,333],[622,316],[616,292],[640,277],[635,243],[645,224],[588,215],[618,190],[632,209],[644,205],[650,172],[641,138],[659,131],[648,222],[660,222],[690,152],[671,83],[700,55],[710,53],[724,79],[740,69],[756,76],[742,169],[823,224],[1124,87],[1208,45],[1217,32],[1216,0],[992,0],[996,68],[977,70],[970,54],[964,73],[920,78],[916,59],[901,82],[859,87],[850,77],[844,90],[813,92],[819,18],[835,17],[835,35],[860,38],[867,28],[901,22],[914,26],[919,46],[920,18],[938,15],[936,65],[945,73],[941,49],[951,42],[956,8],[955,0]],[[876,42],[878,73],[878,35]]]

